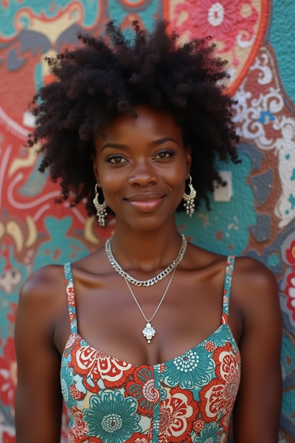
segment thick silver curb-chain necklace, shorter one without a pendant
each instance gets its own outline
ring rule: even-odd
[[[183,234],[181,234],[182,237],[182,244],[181,248],[179,250],[179,253],[175,260],[172,261],[167,268],[164,269],[164,271],[160,272],[157,276],[149,279],[149,280],[136,280],[135,278],[131,277],[127,272],[123,271],[119,263],[116,261],[115,257],[113,256],[113,253],[111,251],[111,237],[107,239],[105,243],[105,251],[107,254],[107,258],[109,259],[112,267],[119,273],[120,276],[124,277],[126,282],[129,282],[131,284],[135,284],[135,286],[152,286],[153,284],[157,283],[158,281],[162,280],[162,278],[168,276],[170,272],[173,271],[173,269],[176,268],[177,264],[180,263],[182,257],[184,256],[185,250],[187,248],[188,242],[186,241],[186,238]],[[129,285],[128,285],[129,286]]]

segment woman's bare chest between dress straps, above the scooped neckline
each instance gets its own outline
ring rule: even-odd
[[[176,278],[160,306],[166,285],[164,280],[152,288],[133,286],[132,291],[144,317],[124,280],[118,277],[112,282],[101,281],[96,290],[79,284],[78,280],[75,283],[77,330],[96,350],[138,365],[153,365],[192,349],[222,323],[222,281],[208,285],[206,281]],[[229,305],[229,314],[228,311]],[[238,341],[241,323],[235,311],[236,307],[231,303],[228,319]],[[65,312],[57,328],[61,352],[69,337],[68,315]],[[142,333],[148,320],[155,331],[150,343]]]

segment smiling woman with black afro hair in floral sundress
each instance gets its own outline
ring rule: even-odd
[[[275,443],[276,279],[188,244],[174,220],[222,184],[215,155],[238,163],[226,62],[209,38],[178,47],[165,21],[133,27],[130,41],[113,22],[108,43],[79,35],[83,47],[47,59],[57,81],[34,97],[40,171],[61,179],[60,201],[84,199],[116,228],[21,289],[17,442],[59,441],[63,395],[69,442],[225,443],[234,407],[235,443]]]

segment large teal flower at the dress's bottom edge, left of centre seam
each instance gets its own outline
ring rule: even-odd
[[[132,397],[124,398],[118,390],[101,391],[90,397],[90,408],[84,409],[83,419],[88,436],[99,437],[105,443],[123,443],[134,432],[142,431],[135,415],[138,404]]]

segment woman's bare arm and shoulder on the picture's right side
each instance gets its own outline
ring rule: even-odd
[[[277,282],[256,260],[244,257],[237,262],[233,290],[242,300],[244,331],[239,343],[241,384],[234,407],[234,442],[277,443],[282,396]]]

